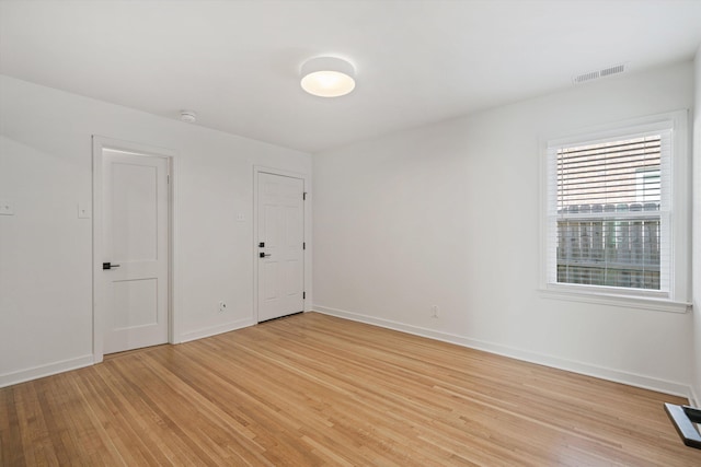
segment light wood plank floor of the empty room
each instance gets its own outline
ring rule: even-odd
[[[307,313],[0,389],[0,465],[701,466],[664,401]]]

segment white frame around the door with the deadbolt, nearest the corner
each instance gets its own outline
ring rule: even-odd
[[[303,278],[304,278],[304,292],[306,297],[303,301],[303,311],[309,311],[309,304],[312,302],[311,290],[311,209],[309,205],[311,202],[310,196],[310,177],[308,174],[299,172],[283,171],[279,168],[266,167],[262,165],[253,166],[253,320],[258,322],[258,174],[272,174],[280,175],[284,177],[301,178],[304,182],[304,196],[306,200],[302,203],[303,215],[303,242],[307,248],[303,250]]]

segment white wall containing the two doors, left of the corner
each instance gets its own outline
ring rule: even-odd
[[[8,77],[0,102],[0,386],[92,362],[92,135],[177,154],[175,340],[254,323],[253,166],[310,155]]]

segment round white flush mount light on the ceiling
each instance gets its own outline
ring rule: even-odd
[[[302,89],[320,97],[340,97],[355,87],[355,69],[341,58],[312,58],[302,65],[301,72]]]

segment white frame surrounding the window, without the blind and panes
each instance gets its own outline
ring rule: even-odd
[[[691,195],[690,195],[690,162],[688,110],[677,110],[667,114],[635,118],[616,124],[601,125],[582,131],[561,133],[550,138],[541,138],[541,273],[540,291],[548,299],[570,300],[577,302],[598,303],[606,305],[627,306],[653,311],[686,313],[690,311],[689,303],[691,277]],[[583,285],[559,283],[552,280],[554,248],[549,215],[549,179],[551,177],[549,151],[553,148],[576,147],[594,141],[616,140],[630,135],[650,131],[671,130],[671,160],[669,178],[671,191],[669,199],[668,232],[670,238],[670,261],[668,269],[667,290],[642,290],[629,288],[612,288],[605,285]]]

